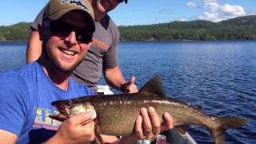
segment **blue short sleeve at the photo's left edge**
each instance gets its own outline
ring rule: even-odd
[[[0,129],[21,134],[28,109],[29,90],[22,78],[0,74]]]

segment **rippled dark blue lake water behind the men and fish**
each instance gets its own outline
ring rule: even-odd
[[[239,115],[246,126],[227,130],[226,143],[256,143],[256,41],[121,42],[119,63],[138,87],[155,74],[168,96],[200,105],[207,114]],[[26,42],[0,43],[0,71],[25,64]],[[103,78],[101,84],[104,84]],[[198,143],[213,143],[192,126]]]

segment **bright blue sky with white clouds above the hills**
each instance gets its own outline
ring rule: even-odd
[[[0,4],[0,26],[32,22],[48,0],[6,0]],[[129,0],[110,12],[118,26],[204,19],[219,22],[256,14],[256,0]]]

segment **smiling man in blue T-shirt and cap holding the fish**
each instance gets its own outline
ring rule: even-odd
[[[84,58],[94,33],[90,2],[50,0],[38,23],[42,54],[37,61],[0,74],[0,143],[85,143],[94,140],[94,113],[85,112],[58,122],[50,102],[93,92],[70,77]],[[120,143],[152,138],[170,129],[173,120],[164,114],[161,126],[154,108],[142,108],[134,132]],[[55,114],[56,115],[56,114]],[[149,133],[145,134],[142,127]],[[106,137],[105,137],[106,138]]]

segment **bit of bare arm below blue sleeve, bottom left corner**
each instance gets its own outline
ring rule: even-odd
[[[0,130],[0,143],[15,143],[18,139],[16,134],[10,133],[6,130]]]

